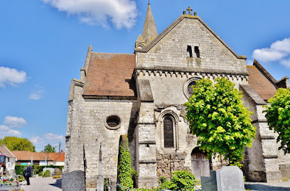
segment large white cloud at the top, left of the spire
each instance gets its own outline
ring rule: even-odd
[[[43,0],[68,14],[77,15],[80,21],[89,24],[131,28],[136,22],[136,2],[132,0]]]

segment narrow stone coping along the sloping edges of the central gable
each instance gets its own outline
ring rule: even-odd
[[[229,45],[227,45],[227,43],[225,43],[222,38],[220,38],[220,36],[218,36],[199,16],[191,16],[191,15],[181,15],[179,16],[176,21],[174,21],[170,26],[168,26],[168,28],[166,28],[159,36],[157,36],[151,43],[149,43],[149,45],[147,45],[145,48],[143,49],[135,49],[135,52],[140,52],[140,53],[147,53],[151,48],[154,47],[154,45],[156,45],[164,36],[166,36],[167,33],[169,33],[173,28],[175,28],[178,23],[180,23],[181,21],[183,21],[184,18],[191,18],[191,19],[198,19],[198,21],[200,21],[200,23],[203,24],[203,26],[205,26],[205,28],[208,28],[208,31],[210,31],[210,33],[213,34],[213,36],[215,36],[215,38],[218,38],[218,40],[220,40],[220,42],[225,45],[225,47],[230,50],[230,52],[235,55],[235,57],[237,57],[238,59],[244,59],[246,60],[247,58],[244,55],[237,55],[237,53],[235,53],[234,50],[232,50],[232,48],[230,48]]]

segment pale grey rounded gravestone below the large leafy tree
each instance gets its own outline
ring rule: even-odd
[[[223,166],[217,170],[218,191],[245,191],[242,170],[237,166]]]

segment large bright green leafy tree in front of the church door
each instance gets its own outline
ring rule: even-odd
[[[252,146],[256,128],[251,124],[252,112],[242,104],[242,92],[226,78],[215,84],[203,79],[196,82],[186,102],[186,119],[190,133],[198,136],[200,148],[211,155],[224,155],[230,165],[240,165],[245,146]]]

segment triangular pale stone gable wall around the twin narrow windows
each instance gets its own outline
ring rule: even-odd
[[[188,58],[188,45],[198,46],[200,58]],[[238,59],[198,19],[184,18],[148,53],[137,53],[136,68],[247,74],[245,60]]]

